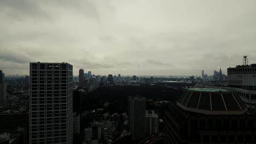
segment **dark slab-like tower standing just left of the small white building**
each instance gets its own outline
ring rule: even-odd
[[[129,97],[129,118],[132,140],[140,140],[146,133],[146,98]]]

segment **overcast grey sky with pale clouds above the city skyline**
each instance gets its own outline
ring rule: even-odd
[[[68,62],[93,74],[208,75],[256,63],[256,1],[1,0],[0,69]]]

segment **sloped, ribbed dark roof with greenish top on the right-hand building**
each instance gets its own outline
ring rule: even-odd
[[[234,91],[223,88],[184,89],[177,105],[186,111],[208,115],[243,115],[247,111]]]

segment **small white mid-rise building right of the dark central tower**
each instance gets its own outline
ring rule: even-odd
[[[149,135],[157,134],[159,118],[154,111],[146,111],[146,133]]]

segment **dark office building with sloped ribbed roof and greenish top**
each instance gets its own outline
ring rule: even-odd
[[[235,91],[185,88],[164,117],[165,143],[253,143],[255,113]]]

